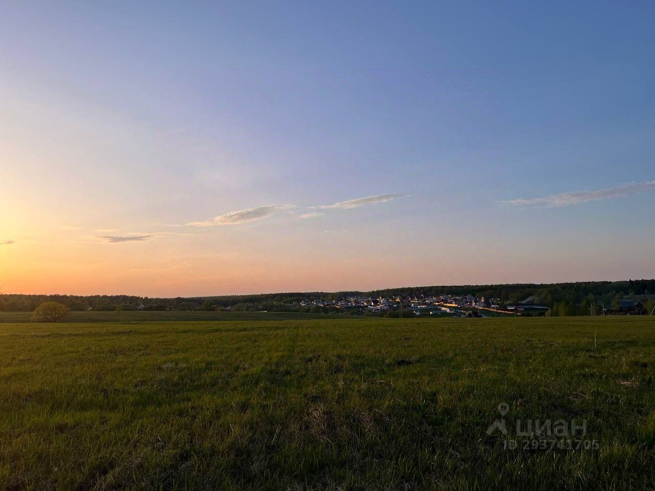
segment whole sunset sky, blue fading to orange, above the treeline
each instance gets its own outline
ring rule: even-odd
[[[5,2],[0,292],[655,277],[655,4]]]

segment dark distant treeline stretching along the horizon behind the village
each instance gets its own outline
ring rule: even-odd
[[[498,299],[501,304],[527,302],[552,308],[554,315],[588,314],[601,306],[620,310],[626,297],[643,298],[655,295],[655,280],[576,283],[516,283],[508,285],[441,285],[428,287],[392,288],[375,291],[266,293],[260,295],[224,295],[217,297],[149,298],[131,295],[0,295],[0,310],[28,312],[47,300],[61,302],[71,310],[269,310],[284,312],[307,311],[317,306],[299,307],[300,302],[337,300],[346,297],[437,297],[439,295],[474,295]],[[652,300],[651,300],[652,301]],[[333,309],[324,307],[322,310]]]

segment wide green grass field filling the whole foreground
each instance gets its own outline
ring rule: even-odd
[[[644,317],[3,323],[0,489],[652,489],[654,375]]]

